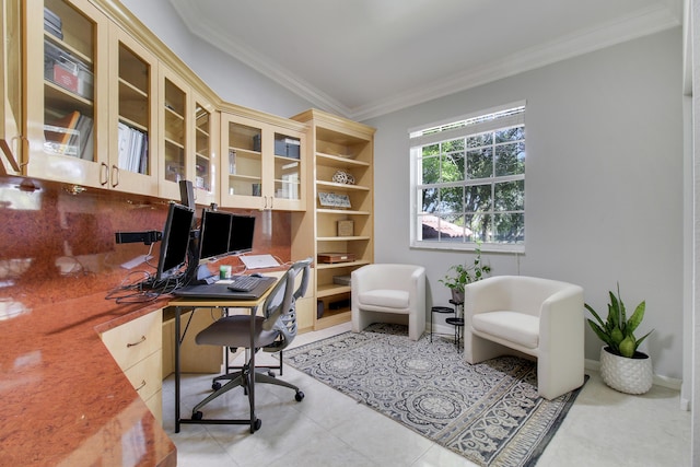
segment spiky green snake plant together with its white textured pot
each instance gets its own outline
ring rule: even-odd
[[[653,329],[637,339],[634,331],[644,319],[646,302],[642,301],[632,316],[627,318],[625,303],[620,297],[620,285],[617,295],[609,292],[608,316],[604,322],[595,310],[584,304],[595,320],[588,319],[588,325],[598,338],[605,342],[600,349],[600,376],[605,384],[614,389],[627,394],[644,394],[652,387],[652,360],[638,350],[640,343],[652,334]]]

